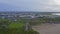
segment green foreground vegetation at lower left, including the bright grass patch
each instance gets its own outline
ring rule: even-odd
[[[25,23],[22,22],[9,22],[3,19],[0,24],[0,34],[38,34],[32,28],[29,31],[25,31]]]

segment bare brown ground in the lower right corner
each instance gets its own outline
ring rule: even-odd
[[[60,34],[60,24],[43,24],[33,26],[33,29],[40,34]]]

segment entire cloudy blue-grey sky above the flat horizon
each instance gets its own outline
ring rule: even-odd
[[[60,12],[60,0],[0,0],[0,11]]]

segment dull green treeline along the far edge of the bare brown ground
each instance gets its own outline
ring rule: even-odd
[[[42,23],[54,23],[54,24],[59,24],[60,23],[60,17],[56,18],[47,18],[47,17],[38,17],[30,20],[30,24],[32,25],[40,25]]]

